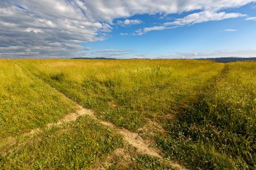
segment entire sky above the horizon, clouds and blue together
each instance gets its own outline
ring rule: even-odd
[[[256,57],[256,0],[1,0],[0,58]]]

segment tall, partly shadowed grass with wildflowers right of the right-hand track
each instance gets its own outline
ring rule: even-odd
[[[166,126],[159,145],[191,168],[254,169],[256,63],[228,63],[201,99]]]

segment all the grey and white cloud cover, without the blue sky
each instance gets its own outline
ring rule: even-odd
[[[113,20],[139,14],[175,14],[185,11],[220,11],[256,0],[5,0],[0,1],[0,57],[79,57],[88,48],[77,42],[102,41],[112,31]],[[225,12],[224,12],[225,13]],[[216,12],[209,18],[236,14]],[[199,14],[190,23],[203,20]],[[219,16],[221,15],[221,16]],[[224,16],[222,16],[224,15]],[[238,14],[237,14],[238,15]],[[187,19],[175,20],[177,25]],[[121,20],[122,25],[140,20]],[[174,25],[175,23],[169,23]],[[170,26],[169,25],[169,26]],[[141,34],[167,25],[144,28]],[[56,46],[54,46],[54,44]],[[13,48],[13,49],[11,49]],[[77,53],[79,52],[79,53]],[[84,52],[84,54],[86,54]]]

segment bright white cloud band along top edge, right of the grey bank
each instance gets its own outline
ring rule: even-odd
[[[113,19],[133,16],[135,14],[174,14],[193,10],[222,10],[240,7],[255,0],[85,0],[76,1],[88,16],[94,20],[112,23]]]

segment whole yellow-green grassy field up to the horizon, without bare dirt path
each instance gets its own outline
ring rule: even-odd
[[[166,161],[191,169],[255,168],[255,62],[16,59],[0,66],[0,138],[22,141],[0,154],[3,169],[86,169],[104,159],[109,169],[174,168]],[[74,112],[73,101],[138,134],[164,161],[132,150],[116,130],[88,116],[20,137]],[[118,148],[127,155],[113,156]]]

